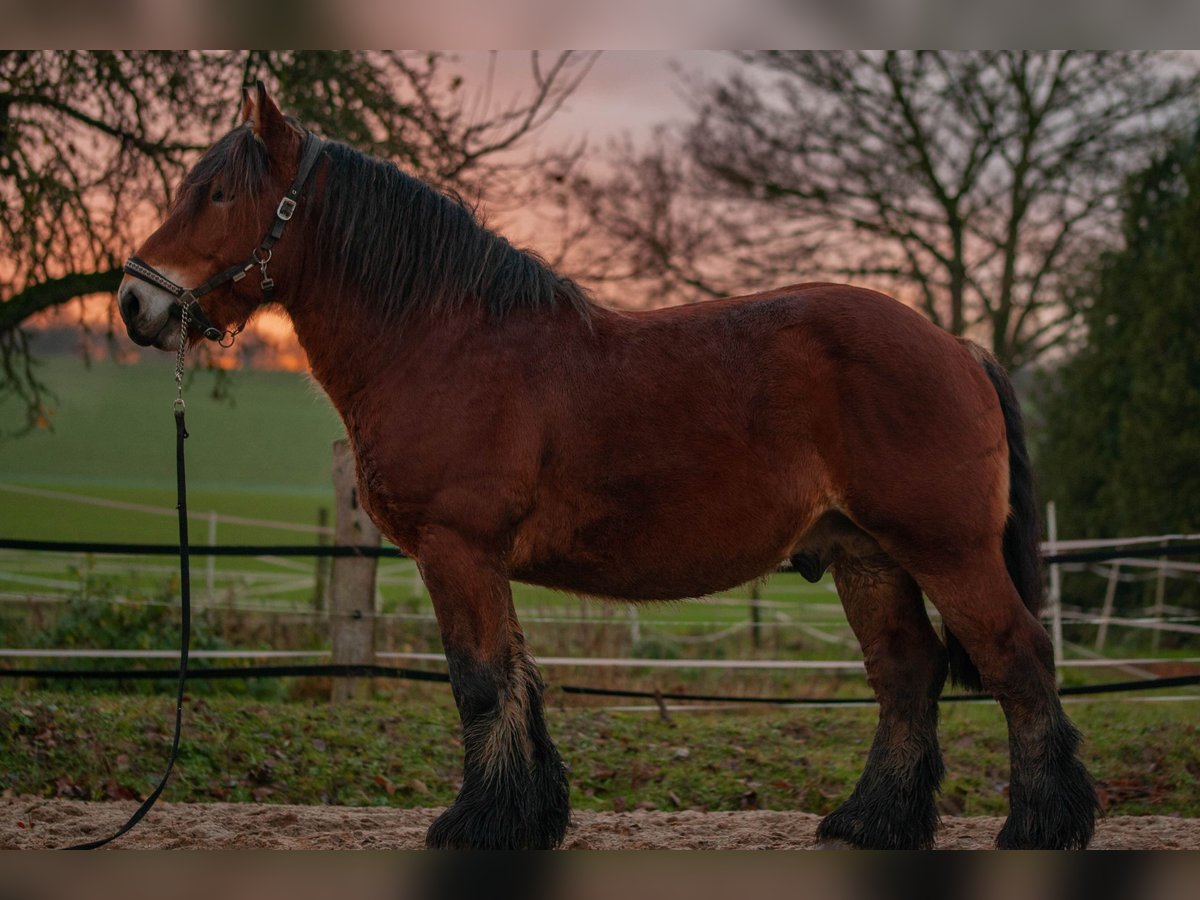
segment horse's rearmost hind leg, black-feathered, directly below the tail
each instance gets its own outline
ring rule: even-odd
[[[997,845],[1086,847],[1097,800],[1076,756],[1080,736],[1058,702],[1050,637],[1021,602],[1000,548],[917,577],[1008,720],[1009,816]]]

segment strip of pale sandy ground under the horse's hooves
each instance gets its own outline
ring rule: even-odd
[[[0,799],[0,848],[49,848],[107,836],[132,803]],[[421,847],[434,809],[160,803],[114,845],[196,850],[412,850]],[[806,812],[575,812],[572,850],[805,850],[817,816]],[[946,817],[938,847],[992,845],[1000,818]],[[1103,850],[1200,850],[1200,820],[1121,816],[1102,820]]]

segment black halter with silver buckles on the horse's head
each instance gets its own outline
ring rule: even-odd
[[[235,331],[222,331],[212,324],[208,316],[204,314],[204,310],[200,308],[199,299],[205,294],[216,290],[222,284],[232,281],[241,281],[246,277],[246,272],[257,265],[263,272],[263,300],[264,302],[270,302],[270,300],[275,296],[275,281],[266,274],[266,264],[271,262],[271,247],[274,247],[276,241],[283,236],[283,229],[287,227],[292,215],[296,210],[296,199],[300,197],[300,192],[307,184],[308,176],[316,168],[317,158],[320,156],[320,151],[324,145],[325,142],[311,131],[305,132],[304,149],[300,154],[300,168],[296,169],[296,176],[292,181],[292,187],[288,188],[283,199],[280,200],[280,205],[275,210],[275,221],[271,222],[270,230],[268,230],[259,245],[251,251],[250,256],[242,262],[230,265],[224,271],[217,272],[198,288],[185,288],[181,284],[176,284],[152,265],[138,259],[137,257],[130,257],[125,260],[125,271],[134,278],[140,278],[148,284],[154,284],[156,288],[162,288],[168,294],[172,294],[175,298],[175,302],[187,311],[187,318],[196,323],[196,326],[208,340],[216,341],[222,347],[230,346],[233,343],[233,338],[239,331],[241,331],[241,326],[239,326]],[[224,343],[227,335],[229,336],[228,344]]]

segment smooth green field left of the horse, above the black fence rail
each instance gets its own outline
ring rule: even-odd
[[[170,360],[89,368],[56,356],[44,368],[59,395],[52,430],[0,443],[0,482],[174,506]],[[314,524],[317,508],[332,500],[331,444],[344,436],[329,401],[299,373],[236,372],[232,400],[212,397],[215,378],[196,372],[185,388],[190,506]],[[0,492],[0,534],[10,538],[169,541],[173,530],[166,517]]]

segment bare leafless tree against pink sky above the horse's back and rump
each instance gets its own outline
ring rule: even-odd
[[[1126,174],[1200,84],[1159,53],[738,55],[691,79],[673,139],[581,186],[606,251],[636,247],[618,274],[683,298],[854,280],[1010,366],[1072,335]]]

